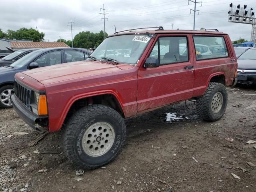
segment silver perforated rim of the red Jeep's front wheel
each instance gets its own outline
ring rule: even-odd
[[[84,133],[82,147],[89,156],[98,157],[110,150],[114,140],[114,128],[107,122],[98,122],[92,124]]]

